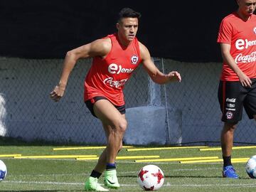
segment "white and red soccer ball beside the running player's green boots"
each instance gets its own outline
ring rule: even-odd
[[[158,166],[146,165],[139,171],[137,182],[144,191],[154,191],[164,184],[164,172]]]

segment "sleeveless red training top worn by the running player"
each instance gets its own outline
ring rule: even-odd
[[[84,100],[104,96],[112,104],[121,106],[124,105],[124,84],[141,63],[139,41],[134,38],[124,48],[119,43],[117,34],[105,38],[111,39],[112,48],[104,59],[99,56],[93,58],[92,67],[85,78]]]

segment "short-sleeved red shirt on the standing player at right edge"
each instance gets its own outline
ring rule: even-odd
[[[237,13],[223,18],[218,33],[218,43],[230,44],[230,54],[238,67],[249,78],[256,78],[256,16],[243,21]],[[238,81],[238,75],[223,61],[220,76],[223,81]]]

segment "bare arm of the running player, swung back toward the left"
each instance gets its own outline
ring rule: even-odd
[[[65,55],[65,60],[63,63],[63,70],[60,76],[60,81],[58,85],[55,86],[54,90],[50,92],[50,97],[57,102],[63,97],[65,92],[65,87],[68,83],[68,77],[73,70],[75,63],[80,58],[92,58],[95,56],[100,56],[104,58],[107,53],[110,52],[111,49],[111,41],[110,38],[98,39],[96,41],[92,41],[92,43],[88,43],[84,46],[80,46],[73,50],[69,50]]]

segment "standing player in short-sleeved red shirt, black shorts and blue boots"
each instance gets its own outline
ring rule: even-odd
[[[231,164],[233,134],[242,119],[242,107],[256,119],[256,0],[237,0],[238,10],[223,18],[218,43],[223,69],[218,100],[224,122],[221,132],[223,177],[238,178]]]

